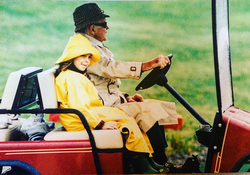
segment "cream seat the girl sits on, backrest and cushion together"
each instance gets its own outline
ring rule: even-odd
[[[56,67],[37,74],[38,86],[43,108],[57,108],[54,73]],[[39,98],[40,98],[39,97]],[[123,147],[123,139],[119,130],[92,130],[96,147],[99,149],[120,149]],[[58,140],[88,140],[86,131],[67,132],[58,128],[49,132],[45,141]]]

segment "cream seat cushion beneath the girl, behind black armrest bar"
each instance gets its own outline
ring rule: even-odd
[[[123,148],[123,139],[119,130],[92,130],[96,147],[99,149]],[[44,137],[45,141],[59,140],[89,140],[86,131],[65,131],[62,128],[49,132]]]

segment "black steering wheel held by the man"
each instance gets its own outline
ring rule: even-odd
[[[135,88],[136,91],[143,90],[150,88],[151,86],[158,84],[160,86],[164,86],[167,83],[167,77],[165,76],[168,72],[170,65],[171,65],[171,59],[173,55],[169,54],[168,58],[170,60],[170,64],[165,66],[163,69],[160,69],[159,67],[154,68]]]

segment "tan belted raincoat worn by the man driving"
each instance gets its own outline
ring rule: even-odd
[[[177,124],[175,103],[159,100],[126,103],[124,93],[119,90],[120,79],[136,79],[141,77],[141,62],[124,62],[114,60],[113,53],[95,38],[82,34],[97,48],[100,60],[88,68],[90,81],[98,90],[105,106],[113,106],[124,110],[133,117],[139,127],[147,132],[157,121],[159,125]],[[124,103],[121,102],[124,101]]]

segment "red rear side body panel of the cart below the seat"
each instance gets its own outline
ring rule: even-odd
[[[96,174],[89,141],[22,141],[0,144],[2,160],[20,160],[41,174]],[[99,153],[102,172],[122,174],[122,156]]]

